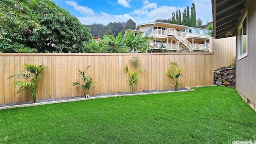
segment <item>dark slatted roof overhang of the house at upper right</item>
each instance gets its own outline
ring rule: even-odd
[[[246,0],[212,0],[214,38],[236,36]]]

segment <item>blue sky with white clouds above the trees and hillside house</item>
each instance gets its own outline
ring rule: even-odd
[[[203,24],[212,21],[211,0],[53,0],[53,2],[76,16],[82,24],[126,22],[132,19],[136,25],[168,19],[172,12],[187,6],[196,6],[196,18]]]

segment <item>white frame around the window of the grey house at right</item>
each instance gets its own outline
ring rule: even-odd
[[[242,32],[240,31],[241,29],[243,30],[243,22],[244,19],[246,18],[246,52],[244,54],[240,55],[240,52],[243,50],[243,44],[241,44],[242,41]],[[248,12],[246,10],[239,26],[237,29],[237,60],[241,60],[242,58],[245,58],[246,56],[248,56]]]

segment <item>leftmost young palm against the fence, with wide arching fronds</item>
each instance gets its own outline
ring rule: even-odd
[[[10,85],[12,86],[20,86],[20,89],[15,92],[18,94],[19,92],[26,91],[32,92],[33,103],[36,103],[36,92],[38,90],[38,84],[42,80],[41,74],[42,71],[46,68],[44,65],[36,65],[36,64],[24,64],[21,74],[14,74],[11,78],[19,78],[24,79],[25,81],[14,81]]]

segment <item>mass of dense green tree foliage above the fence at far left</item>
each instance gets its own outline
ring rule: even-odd
[[[2,52],[82,52],[91,39],[87,27],[51,0],[1,0],[0,7]]]

